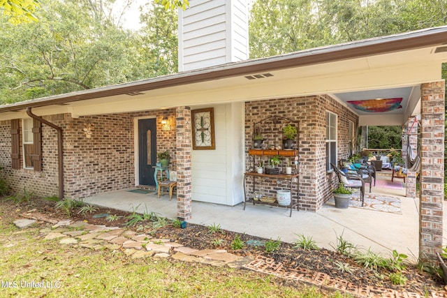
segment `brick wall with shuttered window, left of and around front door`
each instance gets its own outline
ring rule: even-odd
[[[175,161],[175,110],[95,115],[71,118],[69,114],[44,117],[60,126],[64,139],[65,197],[84,198],[89,195],[117,191],[135,185],[134,118],[156,117],[157,151],[170,151]],[[161,118],[168,117],[171,131],[162,131]],[[85,137],[84,124],[94,124],[91,138]],[[11,169],[10,121],[0,122],[1,174],[15,193],[23,188],[36,195],[58,193],[57,132],[42,128],[42,172]]]

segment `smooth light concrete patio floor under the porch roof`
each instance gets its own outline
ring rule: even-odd
[[[381,178],[382,179],[382,178]],[[297,234],[313,237],[318,246],[333,249],[337,235],[362,248],[388,256],[393,249],[406,253],[416,260],[418,248],[418,199],[404,197],[405,190],[372,187],[372,193],[400,198],[402,214],[372,211],[349,207],[336,209],[330,202],[317,213],[293,211],[265,205],[238,204],[228,207],[220,204],[193,202],[193,218],[190,223],[200,225],[219,224],[221,228],[251,234],[267,239],[281,238],[293,242]],[[85,203],[96,204],[124,211],[156,211],[161,216],[175,218],[177,202],[168,195],[157,198],[156,193],[140,194],[117,191],[85,198]],[[446,204],[444,204],[446,205]],[[445,221],[444,216],[444,221]],[[447,225],[444,225],[446,227]],[[444,243],[446,243],[444,231]]]

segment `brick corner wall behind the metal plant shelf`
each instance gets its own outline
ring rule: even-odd
[[[348,121],[353,121],[357,126],[356,115],[329,96],[252,101],[245,104],[245,109],[246,170],[253,170],[251,168],[253,165],[251,158],[253,157],[249,156],[248,150],[252,147],[251,137],[255,122],[274,116],[287,117],[297,121],[300,126],[298,136],[300,181],[298,191],[293,190],[292,192],[292,198],[296,202],[297,192],[299,193],[300,210],[318,211],[321,209],[323,203],[331,198],[332,186],[335,183],[334,174],[327,174],[325,168],[325,111],[329,110],[339,116],[338,158],[346,158],[349,155]],[[282,127],[281,124],[277,125]],[[269,133],[270,131],[267,132],[267,134]],[[277,137],[268,135],[270,142],[280,145],[282,145],[281,137],[282,135]],[[262,189],[264,192],[274,195],[277,189],[284,187],[287,187],[284,181],[270,179],[263,182],[263,186],[257,186],[256,190]],[[253,190],[250,188],[249,191]]]

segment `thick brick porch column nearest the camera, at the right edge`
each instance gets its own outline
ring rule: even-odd
[[[422,84],[419,258],[434,262],[442,246],[444,80]]]

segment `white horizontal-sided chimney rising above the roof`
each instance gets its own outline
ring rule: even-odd
[[[247,0],[191,0],[179,9],[179,72],[249,59]]]

